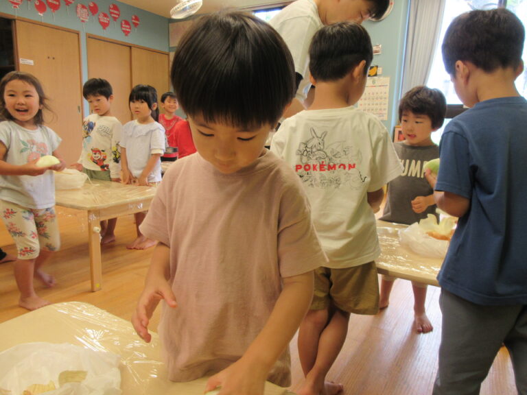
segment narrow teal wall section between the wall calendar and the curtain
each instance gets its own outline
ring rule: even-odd
[[[382,121],[388,132],[399,122],[397,108],[401,97],[404,49],[410,0],[395,0],[392,12],[379,22],[366,21],[364,27],[373,45],[382,45],[382,53],[373,56],[372,64],[382,67],[382,75],[390,77],[388,121]]]

